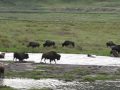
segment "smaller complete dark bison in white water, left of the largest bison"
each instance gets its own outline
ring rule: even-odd
[[[26,54],[26,53],[17,53],[17,52],[15,52],[14,54],[13,54],[13,60],[14,59],[19,59],[19,61],[20,62],[22,62],[24,59],[28,59],[29,58],[29,55],[28,54]]]

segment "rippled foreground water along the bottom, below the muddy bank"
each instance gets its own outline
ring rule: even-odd
[[[120,90],[120,81],[65,82],[57,79],[1,79],[0,85],[19,90],[30,88],[51,88],[53,90]]]

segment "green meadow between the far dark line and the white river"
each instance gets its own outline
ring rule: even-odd
[[[61,53],[108,55],[109,49],[106,48],[105,43],[109,40],[115,43],[120,41],[118,21],[120,14],[0,14],[6,19],[10,15],[19,19],[0,21],[1,51],[55,50]],[[43,48],[42,44],[45,40],[54,40],[57,47]],[[76,47],[62,48],[61,43],[64,40],[74,41]],[[29,41],[39,42],[40,48],[27,48]]]

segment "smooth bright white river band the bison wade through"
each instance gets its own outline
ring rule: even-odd
[[[120,66],[120,58],[110,56],[96,56],[87,57],[86,54],[63,54],[60,53],[61,59],[57,61],[57,64],[73,64],[73,65],[102,65],[102,66]],[[33,61],[40,63],[42,53],[29,53],[29,58],[25,61]],[[3,61],[12,61],[13,53],[6,53]],[[49,63],[49,60],[46,60]],[[52,62],[54,63],[54,62]]]

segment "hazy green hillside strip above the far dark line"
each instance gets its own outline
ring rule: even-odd
[[[0,0],[0,11],[119,12],[120,0]]]

